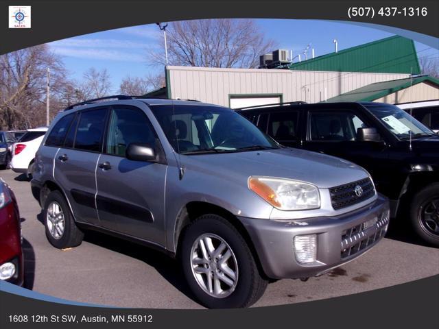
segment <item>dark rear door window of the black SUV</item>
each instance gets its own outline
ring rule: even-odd
[[[295,141],[297,139],[298,112],[272,112],[268,124],[268,134],[276,141]]]

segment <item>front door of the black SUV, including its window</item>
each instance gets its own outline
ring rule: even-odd
[[[357,141],[357,129],[361,127],[372,125],[352,109],[309,110],[303,147],[350,160],[379,180],[388,170],[383,166],[388,158],[387,147],[383,141]]]

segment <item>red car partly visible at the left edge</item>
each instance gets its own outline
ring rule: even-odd
[[[0,280],[23,286],[23,252],[19,206],[0,178]]]

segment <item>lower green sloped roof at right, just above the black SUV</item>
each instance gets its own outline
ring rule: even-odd
[[[332,97],[328,99],[328,101],[331,103],[337,101],[374,101],[375,99],[396,93],[396,91],[414,86],[415,84],[420,84],[421,82],[428,82],[439,88],[439,80],[434,77],[429,77],[428,75],[423,75],[420,77],[408,77],[406,79],[368,84],[367,86],[351,90],[348,93]]]

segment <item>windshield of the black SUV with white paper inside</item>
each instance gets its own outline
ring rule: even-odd
[[[393,105],[366,106],[399,139],[437,136],[410,114]]]

